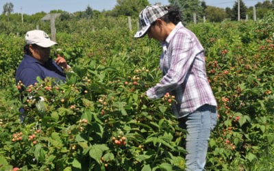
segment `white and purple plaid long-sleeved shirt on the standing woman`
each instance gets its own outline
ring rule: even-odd
[[[163,77],[147,90],[151,99],[169,92],[176,97],[175,114],[182,117],[204,104],[216,106],[216,100],[206,75],[204,51],[190,30],[178,24],[166,39],[160,60]]]

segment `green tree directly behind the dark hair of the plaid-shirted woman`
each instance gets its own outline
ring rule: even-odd
[[[203,7],[199,0],[169,0],[171,5],[178,5],[182,11],[184,24],[193,21],[193,14],[196,14],[197,21],[203,20]]]

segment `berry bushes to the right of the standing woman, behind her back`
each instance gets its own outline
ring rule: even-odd
[[[207,40],[201,38],[203,44],[210,42],[208,79],[219,103],[208,169],[249,169],[261,156],[273,157],[272,18],[269,14],[256,24],[223,23],[218,33],[208,25]],[[195,30],[204,37],[202,29]]]

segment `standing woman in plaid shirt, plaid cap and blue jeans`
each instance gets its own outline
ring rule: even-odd
[[[162,98],[166,92],[177,103],[173,111],[180,127],[186,129],[187,170],[204,170],[210,132],[216,126],[216,100],[206,75],[205,54],[201,43],[181,22],[175,7],[147,6],[139,15],[140,31],[162,43],[160,68],[163,77],[147,90],[151,99]]]

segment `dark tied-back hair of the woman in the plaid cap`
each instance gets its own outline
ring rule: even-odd
[[[179,7],[177,5],[166,6],[166,8],[167,10],[169,10],[169,12],[161,17],[163,21],[165,21],[166,23],[173,23],[175,25],[182,21],[182,12],[179,10]]]

